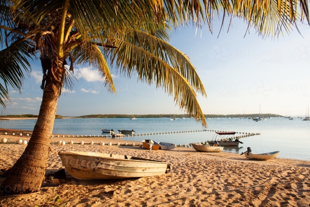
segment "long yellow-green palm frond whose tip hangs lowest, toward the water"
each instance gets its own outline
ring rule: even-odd
[[[155,83],[174,97],[176,105],[184,109],[189,116],[206,127],[206,120],[198,104],[197,96],[191,84],[177,69],[171,67],[158,56],[134,44],[115,39],[117,49],[111,54],[111,62],[115,61],[121,73],[138,78],[148,84]]]

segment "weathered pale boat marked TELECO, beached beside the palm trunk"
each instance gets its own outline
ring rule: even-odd
[[[165,162],[128,155],[65,151],[59,156],[68,172],[82,180],[149,177],[170,171]]]

